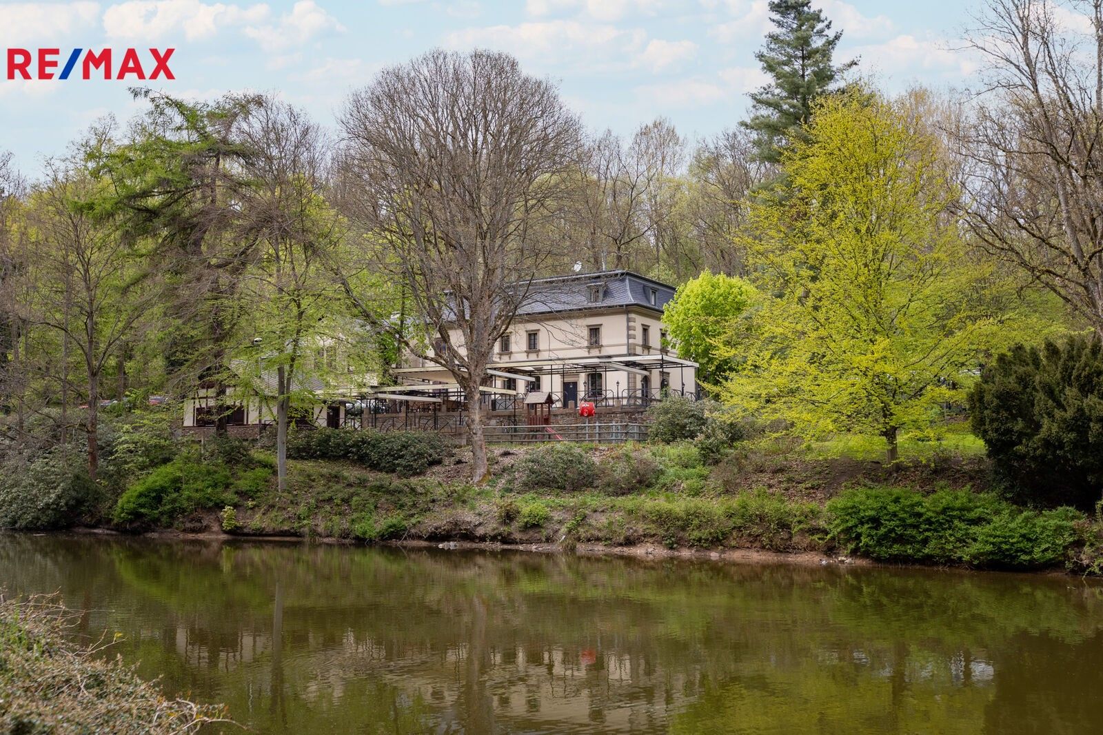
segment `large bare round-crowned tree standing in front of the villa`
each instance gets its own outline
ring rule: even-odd
[[[406,290],[438,349],[404,330],[396,337],[462,387],[481,481],[481,387],[553,249],[548,224],[569,195],[578,119],[554,84],[512,56],[438,50],[353,93],[341,125],[367,255]],[[370,295],[347,290],[365,317],[377,313]]]

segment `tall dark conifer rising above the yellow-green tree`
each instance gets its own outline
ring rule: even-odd
[[[773,82],[751,94],[751,119],[742,125],[757,135],[758,156],[777,163],[785,141],[801,135],[816,97],[858,62],[832,63],[843,32],[831,33],[831,21],[811,0],[770,0],[770,14],[778,30],[754,57]]]

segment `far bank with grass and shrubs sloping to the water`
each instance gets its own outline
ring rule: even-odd
[[[706,465],[692,444],[549,445],[493,452],[494,479],[465,480],[462,449],[417,477],[297,459],[275,488],[256,454],[224,494],[131,532],[346,543],[472,544],[635,556],[785,555],[834,563],[1099,573],[1103,523],[1034,510],[986,486],[983,457],[898,464],[743,451]],[[267,475],[266,475],[267,471]],[[194,473],[194,472],[193,472]],[[193,481],[194,484],[194,481]],[[131,505],[150,505],[131,493]],[[121,501],[120,501],[121,504]],[[158,507],[160,508],[160,507]],[[163,519],[151,510],[150,519]],[[158,514],[160,513],[160,515]],[[116,524],[115,528],[119,528]]]

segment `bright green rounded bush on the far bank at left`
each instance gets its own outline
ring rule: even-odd
[[[114,520],[125,525],[170,525],[199,509],[233,504],[231,482],[226,466],[181,455],[127,488]]]

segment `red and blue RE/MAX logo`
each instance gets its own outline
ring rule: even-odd
[[[9,79],[67,79],[72,74],[79,74],[82,79],[101,78],[105,79],[175,79],[172,70],[169,68],[169,60],[175,49],[150,49],[150,58],[142,65],[142,55],[137,49],[126,49],[121,56],[113,56],[110,49],[100,49],[96,52],[92,49],[74,49],[61,66],[61,49],[35,49],[31,53],[29,49],[8,50],[8,78]],[[81,56],[84,55],[82,60]],[[111,65],[113,61],[118,62],[118,67]],[[32,64],[32,62],[38,62]],[[79,70],[77,65],[79,64]],[[32,66],[34,71],[32,72]],[[61,66],[61,73],[55,70]],[[111,71],[116,73],[113,75]],[[150,70],[147,76],[146,70]],[[18,76],[17,76],[18,75]]]

